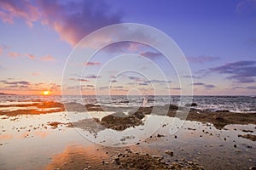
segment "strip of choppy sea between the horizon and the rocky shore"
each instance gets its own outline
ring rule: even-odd
[[[146,96],[148,106],[152,105],[186,105],[195,103],[195,109],[233,112],[256,112],[256,96]],[[0,95],[0,105],[24,101],[56,101],[61,103],[76,102],[80,104],[111,105],[111,106],[138,106],[142,105],[143,96],[43,96],[43,95]]]

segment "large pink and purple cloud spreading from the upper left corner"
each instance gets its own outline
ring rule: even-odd
[[[96,29],[120,23],[121,14],[110,11],[104,1],[60,2],[1,0],[0,19],[9,24],[22,19],[28,26],[41,22],[73,46]]]

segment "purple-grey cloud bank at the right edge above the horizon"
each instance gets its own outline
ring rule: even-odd
[[[219,74],[230,75],[229,77],[226,77],[226,79],[235,80],[235,82],[255,82],[256,61],[236,61],[233,63],[210,68],[210,71],[217,72]]]

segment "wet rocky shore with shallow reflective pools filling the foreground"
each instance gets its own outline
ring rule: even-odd
[[[77,131],[81,129],[81,132],[90,134],[106,129],[117,132],[143,129],[152,107],[139,108],[131,114],[132,108],[124,108],[127,112],[121,113],[113,107],[104,107],[103,110],[98,105],[86,105],[86,110],[93,113],[110,111],[107,116],[90,119],[82,116],[84,105],[65,106],[77,118],[68,119],[64,105],[55,102],[0,105],[4,109],[24,107],[24,110],[0,111],[0,168],[249,169],[256,166],[256,113],[192,109],[184,125],[178,127],[172,124],[177,107],[171,105],[168,117],[155,133],[124,148],[93,144],[81,138]],[[36,108],[26,110],[27,107]],[[158,115],[161,115],[161,109],[157,108]],[[172,128],[179,129],[170,134]],[[95,130],[97,132],[91,132]],[[132,139],[132,135],[124,136],[119,142]],[[24,144],[34,145],[34,148]],[[17,153],[20,159],[15,159],[15,163],[10,161],[14,155],[11,153]],[[22,167],[25,165],[27,167]]]

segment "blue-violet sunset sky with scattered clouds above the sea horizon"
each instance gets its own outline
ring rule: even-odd
[[[116,42],[84,57],[83,50],[117,35],[156,42],[149,31],[121,29],[83,44],[92,32],[124,23],[171,37],[185,66],[140,42]],[[165,95],[192,88],[195,95],[256,95],[256,0],[0,0],[0,76],[6,94]]]

